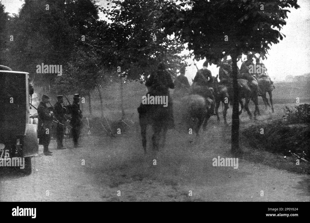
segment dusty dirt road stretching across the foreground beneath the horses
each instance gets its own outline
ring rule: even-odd
[[[241,115],[242,126],[251,123],[247,118]],[[68,148],[56,150],[52,140],[53,156],[44,156],[40,146],[31,175],[2,171],[0,201],[309,201],[307,175],[243,158],[238,169],[212,166],[218,156],[234,158],[230,126],[215,117],[200,139],[169,130],[165,148],[153,152],[148,144],[146,155],[138,131],[133,126],[116,137],[83,136],[77,149],[65,139]],[[147,137],[149,143],[150,131]]]

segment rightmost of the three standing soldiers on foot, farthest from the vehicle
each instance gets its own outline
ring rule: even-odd
[[[78,138],[81,134],[81,128],[82,128],[82,111],[80,110],[80,95],[75,94],[73,96],[73,103],[70,107],[70,114],[71,114],[71,121],[70,124],[72,126],[72,137],[73,137],[73,144],[74,147],[80,147],[78,145]]]

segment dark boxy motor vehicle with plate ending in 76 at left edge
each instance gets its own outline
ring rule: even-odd
[[[31,157],[38,155],[37,125],[30,124],[32,94],[29,73],[0,65],[0,168],[17,164],[18,172],[32,172]],[[23,158],[21,168],[17,160]]]

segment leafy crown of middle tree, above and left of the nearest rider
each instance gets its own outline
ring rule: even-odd
[[[121,66],[131,79],[148,76],[160,61],[166,62],[176,73],[186,58],[179,54],[185,47],[180,39],[167,37],[164,30],[156,26],[157,17],[150,16],[153,10],[160,9],[156,2],[109,2],[108,8],[102,9],[112,21],[108,25],[108,35],[102,39],[102,45],[109,46],[108,53],[103,55],[103,63],[111,69]]]

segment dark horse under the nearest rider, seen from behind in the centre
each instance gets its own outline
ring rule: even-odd
[[[165,97],[168,96],[168,106],[169,106],[169,101],[170,101],[170,106],[172,106],[172,101],[171,98],[169,96],[169,93],[167,92],[163,92],[163,91],[151,91],[149,92],[150,95],[155,96],[155,100],[156,100],[156,96],[159,97]],[[168,131],[168,127],[170,125],[169,123],[169,110],[170,108],[164,107],[161,104],[157,104],[157,105],[148,105],[148,109],[146,110],[146,112],[141,112],[141,110],[139,111],[138,108],[138,112],[139,112],[139,125],[141,128],[141,136],[142,136],[142,146],[144,149],[144,153],[146,153],[146,129],[148,125],[151,125],[153,128],[153,136],[152,136],[152,142],[153,142],[153,149],[154,150],[158,150],[159,149],[159,140],[160,140],[160,136],[162,136],[163,140],[162,140],[162,144],[160,145],[161,147],[163,147],[165,145],[166,142],[166,133]],[[161,134],[162,132],[162,134]]]

